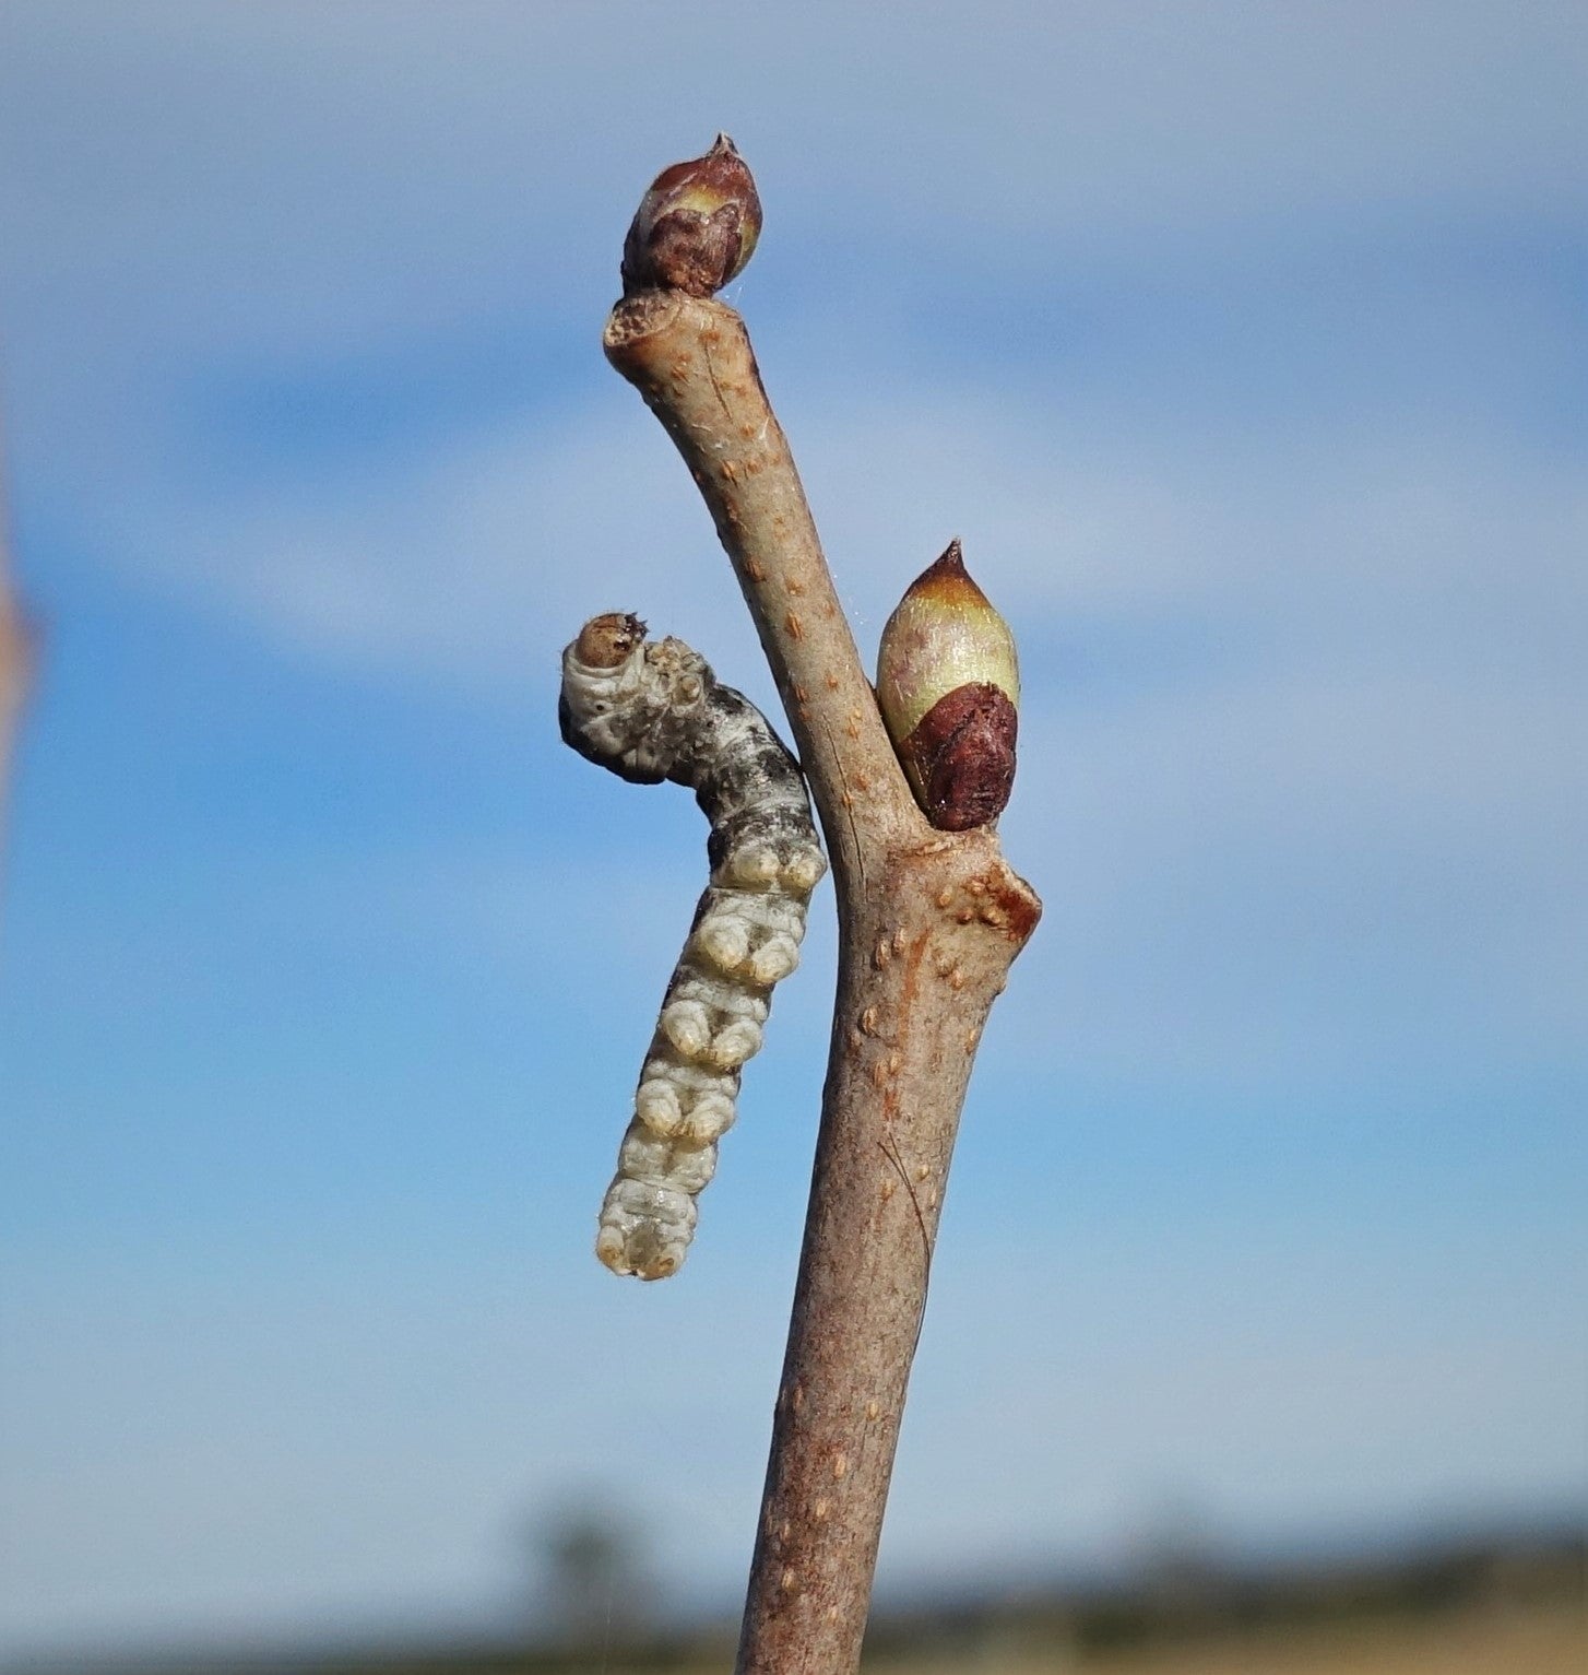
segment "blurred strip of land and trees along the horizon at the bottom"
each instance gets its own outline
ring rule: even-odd
[[[655,1554],[610,1504],[563,1504],[526,1533],[518,1601],[456,1621],[340,1620],[132,1643],[79,1642],[7,1660],[15,1675],[531,1675],[717,1668],[742,1600],[682,1600],[655,1586]],[[864,1667],[1112,1668],[1137,1672],[1429,1667],[1565,1675],[1588,1648],[1581,1516],[1511,1528],[1379,1531],[1275,1551],[1228,1546],[1173,1509],[1129,1554],[1087,1571],[918,1578],[873,1601]]]

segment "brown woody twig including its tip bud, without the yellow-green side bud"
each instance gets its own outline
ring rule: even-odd
[[[660,176],[605,347],[710,508],[833,856],[838,1000],[739,1668],[843,1675],[859,1663],[965,1087],[1040,903],[990,826],[936,829],[900,769],[744,322],[707,295],[755,231],[725,139]]]

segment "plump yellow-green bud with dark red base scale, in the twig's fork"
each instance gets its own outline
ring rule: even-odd
[[[1020,667],[1008,623],[967,575],[958,541],[888,618],[876,697],[926,819],[950,832],[995,821],[1015,782]]]

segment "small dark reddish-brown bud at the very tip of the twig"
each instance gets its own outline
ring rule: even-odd
[[[755,178],[719,134],[704,157],[652,181],[623,240],[623,295],[663,286],[710,296],[744,271],[759,236]]]

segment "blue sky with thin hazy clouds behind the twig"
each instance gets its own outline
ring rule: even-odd
[[[747,1559],[831,896],[615,1281],[704,831],[553,720],[610,608],[771,700],[598,347],[719,127],[858,638],[958,534],[1023,657],[884,1578],[1580,1502],[1585,75],[1573,5],[10,0],[3,1645],[499,1621],[581,1494]]]

